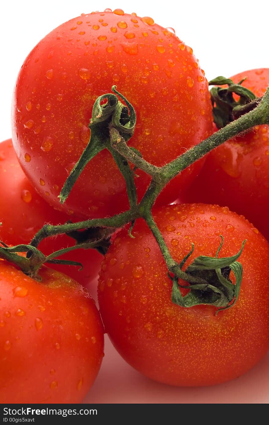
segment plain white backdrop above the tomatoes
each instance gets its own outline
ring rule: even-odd
[[[193,48],[207,79],[269,67],[268,0],[2,0],[0,6],[0,140],[10,131],[11,94],[29,51],[56,26],[109,7],[150,16]],[[130,6],[131,5],[131,6]]]

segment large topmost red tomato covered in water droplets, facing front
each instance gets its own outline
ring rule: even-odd
[[[137,113],[129,144],[155,165],[171,161],[212,131],[204,72],[174,30],[120,9],[76,17],[31,51],[13,99],[20,164],[38,193],[57,208],[64,181],[89,141],[93,103],[114,84]],[[174,201],[201,166],[176,177],[158,202]],[[140,199],[149,176],[137,174]],[[92,218],[129,208],[125,181],[107,150],[86,166],[63,208]]]

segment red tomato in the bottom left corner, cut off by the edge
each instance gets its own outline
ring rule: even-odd
[[[0,275],[0,402],[81,402],[104,349],[87,290],[45,266],[41,282],[6,261]]]

